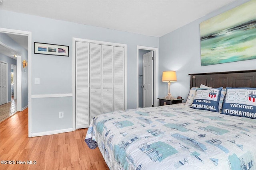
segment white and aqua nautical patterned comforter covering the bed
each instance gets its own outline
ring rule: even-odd
[[[184,104],[98,115],[85,141],[111,170],[256,170],[256,119]]]

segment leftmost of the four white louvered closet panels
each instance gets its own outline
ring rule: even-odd
[[[76,129],[89,125],[89,43],[76,42]]]

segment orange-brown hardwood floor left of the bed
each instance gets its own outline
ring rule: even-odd
[[[87,129],[28,137],[28,109],[0,123],[1,170],[108,170],[98,148],[89,149],[84,142]],[[26,164],[21,164],[25,161]],[[36,161],[28,164],[27,161]]]

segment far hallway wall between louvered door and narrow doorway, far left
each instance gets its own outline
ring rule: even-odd
[[[7,82],[7,86],[8,86],[8,101],[7,102],[10,102],[12,99],[11,99],[11,64],[13,65],[16,65],[16,60],[6,56],[6,55],[3,55],[0,53],[0,61],[4,61],[5,63],[7,63],[7,75],[8,75],[8,82]]]

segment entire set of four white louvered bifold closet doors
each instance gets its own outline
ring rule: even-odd
[[[76,129],[124,109],[124,47],[76,42]]]

